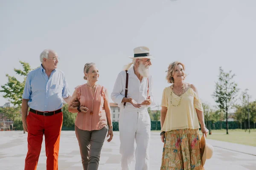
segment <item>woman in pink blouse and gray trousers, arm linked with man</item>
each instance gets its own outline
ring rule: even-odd
[[[108,142],[113,138],[111,109],[107,89],[96,83],[99,71],[95,63],[84,65],[84,79],[87,83],[76,87],[71,99],[78,99],[80,106],[70,103],[68,110],[77,113],[75,130],[84,170],[97,170],[107,131]]]

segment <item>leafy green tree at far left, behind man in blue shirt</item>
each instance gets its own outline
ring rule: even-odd
[[[22,103],[23,89],[26,83],[26,76],[31,70],[29,63],[20,61],[22,69],[14,69],[18,76],[23,77],[23,81],[20,82],[16,77],[6,74],[8,82],[5,85],[1,85],[0,92],[3,93],[3,97],[14,105],[13,108],[7,109],[5,116],[9,119],[15,120],[17,116],[20,116],[20,107]],[[3,112],[4,113],[4,112]]]

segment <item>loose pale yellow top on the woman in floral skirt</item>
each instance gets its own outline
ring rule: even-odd
[[[200,128],[198,116],[195,109],[204,111],[201,100],[192,88],[189,88],[183,95],[180,105],[180,96],[172,94],[171,104],[171,87],[163,90],[162,106],[167,108],[166,118],[162,130],[170,131],[175,129],[198,129]]]

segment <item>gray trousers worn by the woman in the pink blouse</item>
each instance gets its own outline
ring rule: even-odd
[[[99,157],[107,134],[107,128],[101,130],[81,130],[75,126],[84,170],[98,170]]]

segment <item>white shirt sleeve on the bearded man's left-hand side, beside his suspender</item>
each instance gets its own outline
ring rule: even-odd
[[[117,104],[121,104],[122,99],[125,97],[121,94],[123,91],[123,81],[124,81],[124,78],[122,77],[122,74],[120,72],[116,78],[116,82],[115,82],[113,91],[111,93],[111,99],[113,100],[113,102]]]

